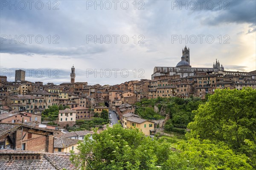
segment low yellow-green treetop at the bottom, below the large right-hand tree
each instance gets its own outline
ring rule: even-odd
[[[180,162],[187,162],[187,167],[195,170],[253,170],[247,156],[236,155],[224,142],[213,144],[192,138],[180,142],[177,149],[181,151]]]

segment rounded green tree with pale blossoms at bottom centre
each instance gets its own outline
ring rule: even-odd
[[[79,154],[71,161],[82,170],[157,170],[172,150],[168,142],[152,141],[138,129],[121,125],[87,136],[80,142]]]

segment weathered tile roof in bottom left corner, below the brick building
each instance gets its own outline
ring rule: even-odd
[[[71,164],[70,154],[40,153],[27,150],[8,150],[0,152],[1,170],[76,170]],[[19,159],[19,157],[22,159]],[[16,160],[17,159],[17,160]]]

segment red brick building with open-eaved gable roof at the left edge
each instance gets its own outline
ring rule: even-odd
[[[53,153],[53,130],[0,123],[0,148]]]

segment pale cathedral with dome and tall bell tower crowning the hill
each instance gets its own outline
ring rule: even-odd
[[[151,79],[158,76],[173,76],[179,75],[181,78],[194,76],[195,72],[218,72],[224,71],[223,65],[219,61],[213,63],[212,68],[192,68],[190,65],[189,48],[185,46],[182,49],[181,61],[177,63],[176,67],[154,67],[154,73],[151,75]]]

